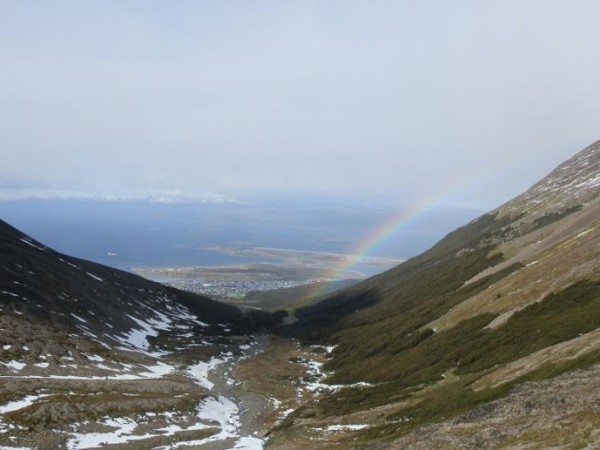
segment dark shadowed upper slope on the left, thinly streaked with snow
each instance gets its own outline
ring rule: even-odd
[[[235,307],[89,261],[72,258],[0,221],[0,298],[4,313],[113,334],[184,306],[205,323],[241,325]]]

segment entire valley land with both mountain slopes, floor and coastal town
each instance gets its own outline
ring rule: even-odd
[[[0,222],[0,447],[597,448],[598,174],[600,141],[364,279],[245,248],[283,262],[157,283]]]

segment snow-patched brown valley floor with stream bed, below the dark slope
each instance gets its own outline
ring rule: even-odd
[[[311,358],[323,350],[272,336],[198,340],[178,324],[162,350],[127,351],[25,319],[0,328],[13,330],[0,346],[1,449],[260,450],[321,376]]]

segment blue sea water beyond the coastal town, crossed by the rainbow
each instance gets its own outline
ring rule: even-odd
[[[0,218],[34,239],[61,253],[123,270],[278,262],[223,251],[228,248],[352,254],[397,213],[396,208],[349,203],[0,201]],[[458,208],[424,212],[410,225],[390,233],[370,256],[414,256],[479,214]],[[373,275],[382,269],[361,266],[360,270]]]

